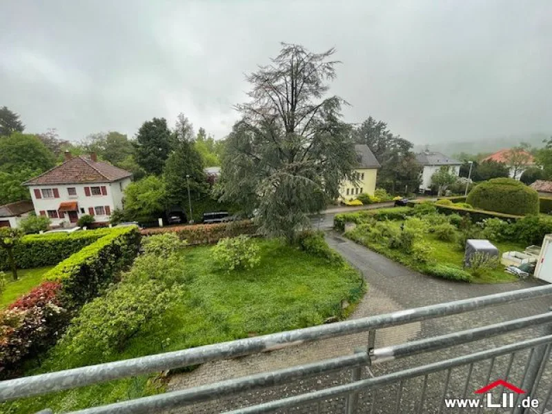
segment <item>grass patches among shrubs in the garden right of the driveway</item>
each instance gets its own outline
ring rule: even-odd
[[[403,222],[404,221],[402,220],[386,221],[389,226],[393,226],[397,229],[400,228]],[[371,248],[372,250],[375,250],[378,253],[389,257],[390,259],[393,259],[404,264],[405,266],[408,266],[409,268],[413,268],[414,270],[424,273],[425,266],[423,264],[420,264],[419,262],[415,262],[411,255],[402,253],[400,250],[391,249],[387,246],[387,244],[378,243],[374,240],[362,237],[362,234],[359,234],[359,230],[357,229],[353,230],[350,233],[346,233],[346,235],[355,240],[355,242],[364,244],[364,246]],[[432,257],[436,260],[437,263],[452,264],[460,267],[462,267],[462,265],[464,264],[464,251],[460,250],[455,242],[444,242],[440,239],[437,239],[437,237],[435,237],[435,235],[431,233],[423,233],[422,242],[428,244],[428,246],[431,246],[431,248],[433,248]],[[498,250],[500,250],[500,255],[510,250],[523,251],[526,247],[520,243],[515,242],[493,242],[493,244],[498,248]],[[473,283],[502,283],[515,282],[516,280],[517,277],[515,275],[504,272],[504,266],[500,265],[497,270],[489,270],[482,277],[473,279]]]

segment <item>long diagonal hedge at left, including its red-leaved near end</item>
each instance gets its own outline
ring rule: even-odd
[[[21,361],[55,344],[70,316],[132,263],[139,242],[135,226],[103,231],[103,237],[52,268],[44,282],[0,311],[0,378],[12,377]]]

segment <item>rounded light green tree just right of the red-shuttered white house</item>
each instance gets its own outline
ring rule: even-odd
[[[150,175],[128,184],[125,188],[125,209],[127,219],[151,221],[164,214],[166,207],[165,181]]]

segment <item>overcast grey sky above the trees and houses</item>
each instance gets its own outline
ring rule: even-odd
[[[4,0],[0,106],[29,132],[135,135],[152,117],[224,137],[279,42],[337,48],[345,120],[415,144],[552,131],[552,1]]]

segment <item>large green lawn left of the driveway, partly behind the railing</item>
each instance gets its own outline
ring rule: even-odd
[[[277,240],[259,240],[261,262],[250,270],[226,273],[213,263],[212,246],[185,248],[179,272],[184,295],[173,302],[155,323],[135,335],[124,350],[101,361],[86,361],[81,355],[57,359],[59,349],[39,368],[42,373],[177,351],[252,335],[262,335],[322,324],[327,317],[344,317],[342,301],[355,304],[364,295],[362,277],[348,265],[331,265]],[[128,400],[164,391],[156,375],[63,391],[20,400],[0,412],[32,413],[45,407],[55,412]],[[213,378],[213,381],[217,380]],[[11,410],[11,411],[9,411]]]

